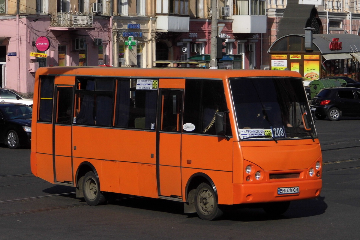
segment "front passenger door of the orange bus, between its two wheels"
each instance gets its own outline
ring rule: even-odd
[[[158,195],[180,199],[181,126],[184,90],[160,88],[159,94],[156,141]]]

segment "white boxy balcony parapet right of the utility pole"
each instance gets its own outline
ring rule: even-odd
[[[231,15],[233,33],[265,33],[265,15]]]

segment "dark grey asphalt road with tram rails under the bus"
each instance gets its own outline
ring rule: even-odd
[[[73,187],[34,177],[30,149],[0,145],[0,239],[359,239],[359,126],[360,118],[316,121],[321,196],[293,201],[278,218],[243,208],[203,221],[181,203],[131,196],[90,207]]]

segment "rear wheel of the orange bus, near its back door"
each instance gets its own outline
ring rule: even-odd
[[[99,179],[94,172],[87,172],[82,183],[82,193],[87,204],[90,206],[106,203],[105,196],[100,191]]]

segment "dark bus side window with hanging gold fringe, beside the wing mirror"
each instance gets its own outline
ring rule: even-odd
[[[194,124],[195,129],[190,133],[215,135],[215,115],[227,111],[222,81],[186,80],[183,123]],[[227,125],[230,134],[230,123]]]

